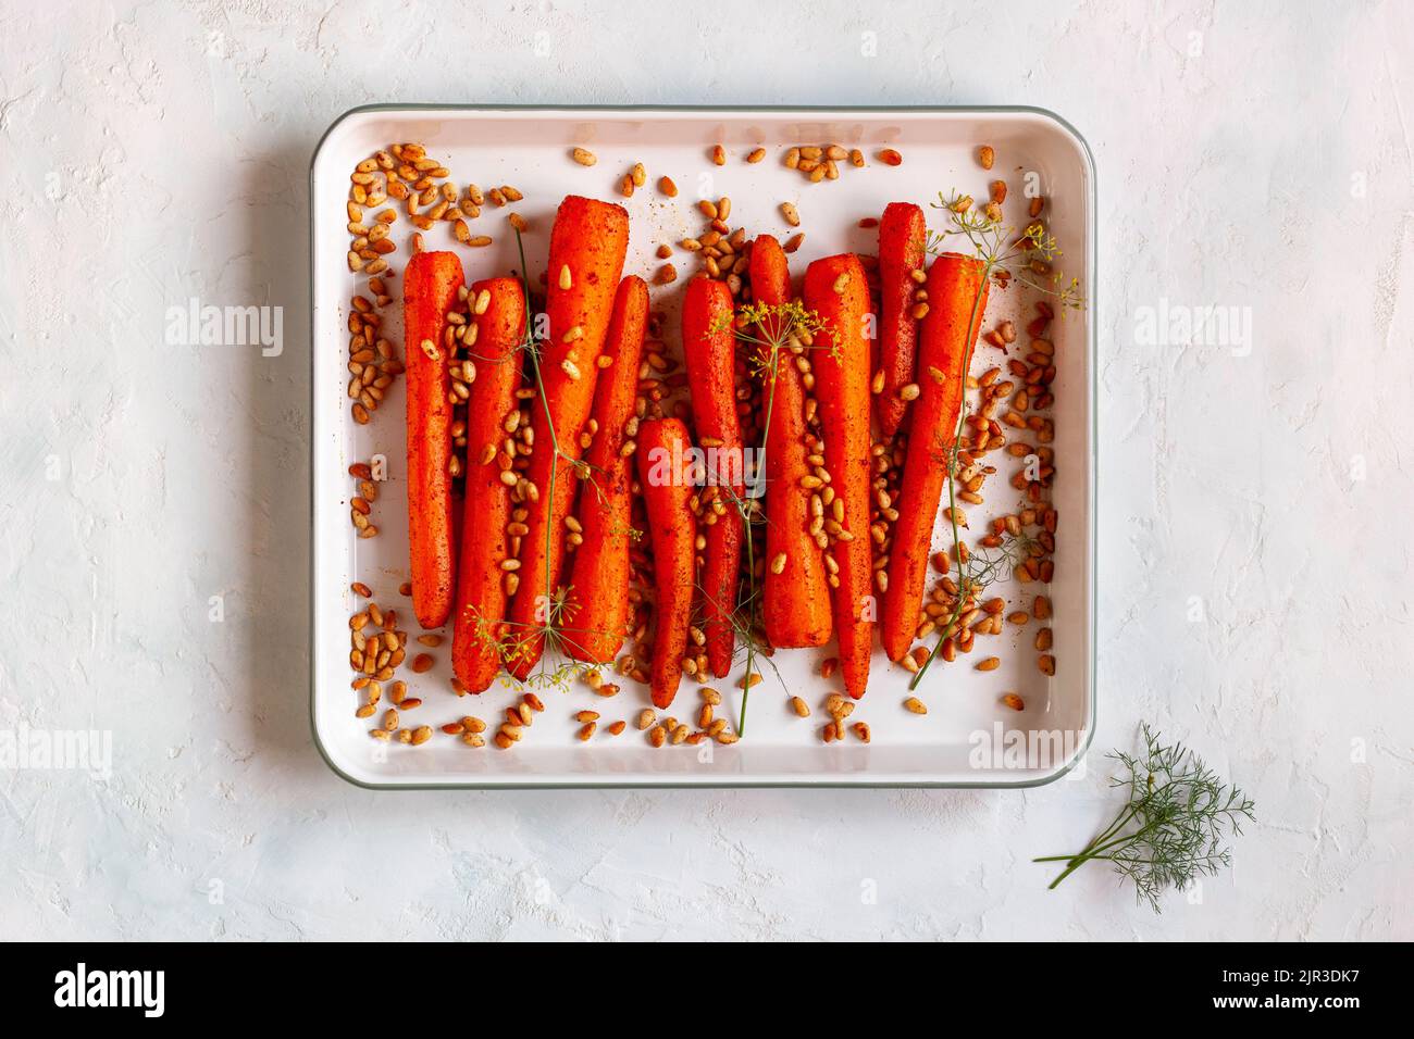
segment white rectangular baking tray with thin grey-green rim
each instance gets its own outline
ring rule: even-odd
[[[546,264],[549,230],[559,202],[567,194],[581,194],[622,202],[631,215],[631,243],[625,274],[650,277],[662,263],[653,249],[701,230],[703,219],[693,202],[699,196],[732,198],[731,225],[745,226],[748,236],[766,232],[781,240],[795,232],[785,223],[779,204],[797,205],[805,245],[792,256],[792,276],[806,266],[839,252],[877,252],[877,232],[860,229],[864,216],[878,216],[891,201],[912,201],[928,212],[929,228],[942,226],[940,213],[928,204],[939,192],[957,189],[986,199],[987,182],[1008,181],[1011,196],[1027,182],[1046,195],[1048,228],[1065,250],[1060,266],[1082,278],[1085,293],[1096,291],[1096,182],[1089,147],[1079,133],[1053,113],[1024,107],[911,107],[911,109],[699,109],[699,107],[515,107],[462,105],[376,105],[341,116],[324,134],[310,170],[311,192],[311,281],[312,281],[312,630],[311,630],[311,722],[315,745],[329,766],[352,783],[409,789],[489,787],[725,787],[725,786],[984,786],[1025,787],[1051,782],[1066,773],[1083,756],[1094,729],[1094,616],[1096,616],[1096,431],[1094,431],[1094,305],[1056,321],[1051,338],[1056,344],[1058,376],[1055,452],[1058,475],[1052,500],[1059,512],[1056,533],[1056,575],[1046,589],[1053,602],[1053,630],[1058,670],[1046,677],[1036,667],[1032,647],[1036,623],[1024,629],[1008,625],[1004,635],[978,638],[971,656],[956,663],[937,662],[923,680],[921,698],[926,715],[911,714],[902,701],[909,674],[891,666],[875,649],[870,688],[855,705],[854,721],[867,721],[870,744],[853,736],[826,745],[820,731],[826,715],[824,695],[839,690],[837,680],[820,677],[820,663],[834,654],[833,643],[820,650],[783,650],[775,667],[765,669],[765,681],[751,691],[744,738],[730,746],[652,748],[633,728],[638,712],[648,705],[645,687],[622,681],[622,691],[605,700],[584,683],[567,693],[540,693],[547,710],[512,751],[488,745],[468,748],[441,734],[438,727],[465,714],[492,725],[503,708],[519,698],[512,683],[496,683],[479,697],[458,698],[450,687],[450,645],[434,650],[436,667],[426,674],[400,669],[410,695],[424,704],[416,714],[404,712],[404,725],[427,724],[434,738],[421,746],[387,745],[370,739],[369,721],[354,711],[359,694],[349,687],[348,618],[358,608],[349,582],[359,580],[373,588],[383,606],[396,606],[403,626],[416,622],[410,601],[397,595],[407,580],[407,523],[403,483],[403,380],[368,425],[349,414],[346,397],[348,310],[355,281],[345,253],[348,232],[345,202],[349,174],[373,151],[395,141],[419,141],[443,161],[460,185],[474,181],[488,189],[512,184],[523,202],[498,211],[486,206],[474,222],[474,233],[491,235],[495,243],[484,249],[455,245],[450,225],[427,232],[428,249],[455,249],[462,254],[468,283],[519,267],[515,236],[506,212],[515,209],[530,221],[526,235],[526,263],[532,278]],[[785,148],[795,144],[834,141],[861,148],[865,168],[841,164],[836,181],[809,184],[799,172],[783,167]],[[710,148],[721,143],[728,160],[717,167]],[[984,171],[976,160],[978,144],[995,148],[997,165]],[[598,157],[594,167],[570,160],[575,146]],[[747,164],[745,155],[765,147],[766,158]],[[889,167],[877,153],[895,148],[904,163]],[[632,199],[617,192],[619,178],[633,163],[648,168],[648,185]],[[653,189],[660,175],[670,175],[680,195],[666,199]],[[1028,181],[1028,178],[1036,178]],[[390,202],[392,204],[392,202]],[[1008,204],[1008,222],[1025,222],[1021,198]],[[402,270],[411,228],[404,215],[395,225],[399,252],[395,269]],[[694,264],[677,253],[674,262],[684,277]],[[390,291],[400,298],[402,281]],[[653,305],[669,312],[666,328],[670,349],[676,342],[676,303],[683,280],[653,288]],[[984,328],[1005,317],[1022,317],[1021,293],[993,293]],[[1025,301],[1029,308],[1035,300]],[[1018,322],[1019,324],[1019,322]],[[397,307],[385,314],[385,335],[402,349]],[[1000,353],[978,346],[973,373],[998,363]],[[354,481],[346,468],[380,454],[387,459],[389,479],[380,485],[375,520],[380,534],[359,540],[349,523]],[[993,452],[988,461],[1001,458]],[[1010,459],[1008,459],[1010,461]],[[974,517],[993,515],[993,505],[1012,507],[1018,493],[1005,482],[1010,469],[988,481],[988,503],[973,509]],[[946,495],[945,495],[946,502]],[[969,541],[980,523],[974,519]],[[950,543],[939,524],[935,547]],[[995,594],[1008,604],[1025,601],[1041,588],[1008,582]],[[1008,609],[1012,606],[1008,605]],[[1019,606],[1018,606],[1019,608]],[[448,640],[450,643],[450,640]],[[1001,666],[980,673],[977,659],[995,654]],[[718,712],[735,718],[741,691],[738,670],[711,686],[724,695]],[[1003,693],[1017,693],[1025,708],[1012,711],[1000,703]],[[813,710],[810,718],[796,717],[788,701],[802,695]],[[686,680],[669,712],[694,718],[700,707],[697,687]],[[386,704],[386,701],[385,701]],[[588,744],[575,738],[578,724],[570,717],[578,710],[595,710],[602,717],[600,734]],[[615,720],[629,722],[619,736],[605,727]]]

